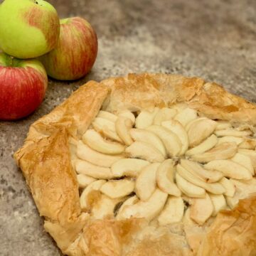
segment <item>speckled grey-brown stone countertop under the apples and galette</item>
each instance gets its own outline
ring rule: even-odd
[[[1,0],[0,0],[1,2]],[[0,255],[61,255],[14,163],[28,127],[88,80],[127,73],[196,75],[256,102],[255,0],[51,0],[61,18],[82,16],[97,31],[92,72],[76,82],[50,80],[30,117],[0,122]]]

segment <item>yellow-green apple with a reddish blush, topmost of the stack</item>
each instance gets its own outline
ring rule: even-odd
[[[57,11],[46,1],[5,0],[0,5],[0,48],[9,55],[41,56],[56,46],[59,34]]]

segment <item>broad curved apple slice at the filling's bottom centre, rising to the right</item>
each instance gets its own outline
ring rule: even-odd
[[[119,219],[146,218],[146,220],[150,221],[159,215],[164,208],[167,197],[167,193],[156,188],[148,201],[139,201],[132,206],[126,206],[124,210],[119,213]]]

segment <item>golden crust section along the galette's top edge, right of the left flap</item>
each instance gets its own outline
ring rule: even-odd
[[[181,75],[129,74],[124,78],[103,80],[102,83],[112,88],[107,110],[115,112],[164,107],[190,100],[201,89],[204,81]]]

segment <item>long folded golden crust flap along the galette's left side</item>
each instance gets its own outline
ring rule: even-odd
[[[85,225],[78,182],[70,164],[68,135],[79,136],[99,112],[108,89],[88,82],[62,105],[38,119],[14,158],[21,167],[46,230],[65,250]]]

